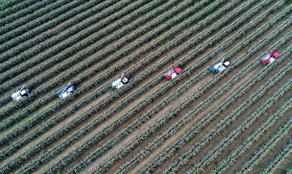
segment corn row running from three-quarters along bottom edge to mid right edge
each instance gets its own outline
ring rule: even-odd
[[[237,147],[236,150],[230,153],[228,157],[226,157],[224,160],[222,160],[217,168],[215,170],[212,170],[212,174],[223,174],[226,172],[230,166],[232,166],[236,160],[243,155],[246,150],[248,150],[253,143],[258,141],[261,136],[272,126],[275,125],[277,119],[284,116],[284,114],[288,111],[288,109],[291,109],[292,107],[292,98],[289,98],[274,114],[272,114],[265,123],[258,128],[254,133],[252,133],[246,140]]]

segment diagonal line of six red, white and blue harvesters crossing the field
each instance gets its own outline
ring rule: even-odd
[[[263,62],[263,65],[269,65],[272,62],[274,62],[277,58],[279,58],[280,54],[274,51],[274,48],[271,50],[271,52],[267,55],[265,55],[262,59],[261,62]],[[223,72],[225,69],[227,69],[230,65],[230,62],[225,61],[224,63],[224,58],[222,59],[221,62],[218,62],[215,66],[211,67],[211,71],[214,72],[215,74],[218,74],[220,72]],[[173,67],[173,69],[170,69],[168,72],[164,74],[166,77],[166,80],[172,80],[175,79],[179,74],[182,72],[181,68],[176,68],[178,66],[178,63]],[[124,74],[113,81],[111,83],[111,87],[114,90],[119,90],[123,88],[130,80],[129,76],[125,76]],[[71,86],[70,86],[71,85]],[[25,88],[25,85],[22,86],[22,88],[13,93],[11,95],[12,100],[14,101],[19,101],[22,100],[25,97],[28,97],[30,95],[30,91],[28,88]],[[74,86],[72,86],[71,82],[67,84],[67,86],[63,87],[59,91],[57,91],[57,95],[61,98],[61,100],[67,98],[69,95],[73,94],[75,92]]]

